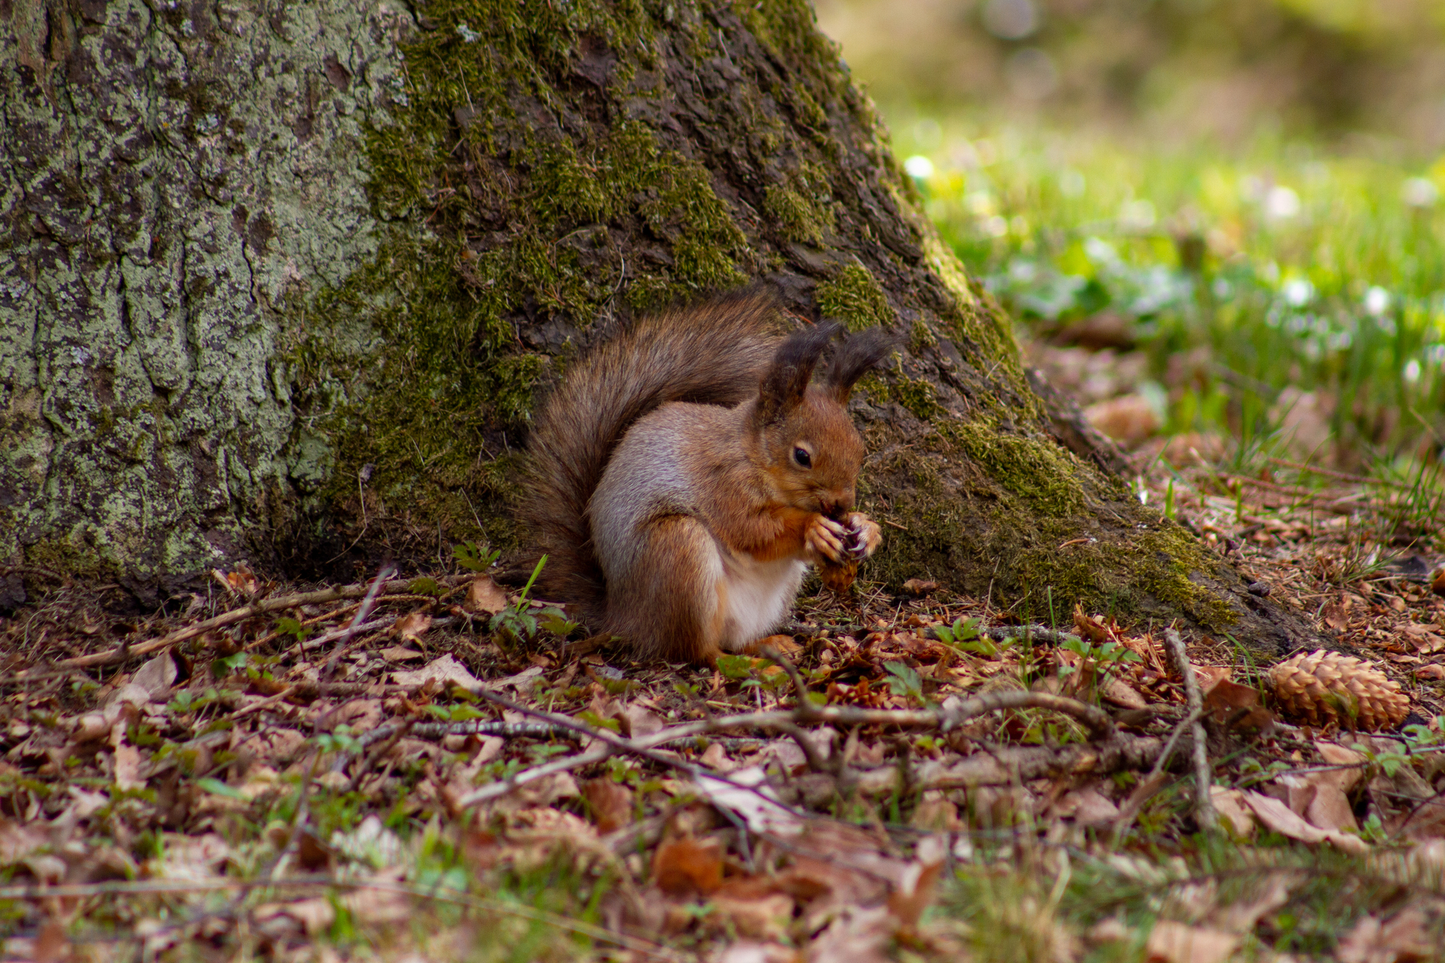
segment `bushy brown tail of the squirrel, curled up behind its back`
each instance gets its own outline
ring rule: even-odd
[[[668,401],[737,404],[756,394],[772,361],[777,306],[744,289],[643,319],[585,355],[542,406],[532,430],[522,505],[539,552],[543,598],[581,606],[595,627],[607,585],[592,550],[587,504],[607,459],[643,414]]]

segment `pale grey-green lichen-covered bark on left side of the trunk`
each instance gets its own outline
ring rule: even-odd
[[[4,10],[0,565],[150,596],[264,552],[257,523],[325,472],[286,449],[277,312],[374,250],[361,133],[405,25],[341,1]]]

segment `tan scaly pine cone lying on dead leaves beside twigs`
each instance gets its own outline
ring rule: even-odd
[[[1274,700],[1286,718],[1377,732],[1393,729],[1410,710],[1400,687],[1367,663],[1316,648],[1270,670]]]

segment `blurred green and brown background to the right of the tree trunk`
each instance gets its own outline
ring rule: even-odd
[[[818,16],[944,237],[1104,430],[1169,461],[1438,462],[1445,3]]]

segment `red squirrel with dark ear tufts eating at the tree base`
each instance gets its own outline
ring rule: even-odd
[[[640,321],[536,419],[523,514],[548,554],[540,591],[639,658],[749,651],[809,563],[881,541],[853,511],[864,448],[847,401],[894,339],[854,334],[824,361],[838,325],[777,338],[776,316],[747,290]]]

